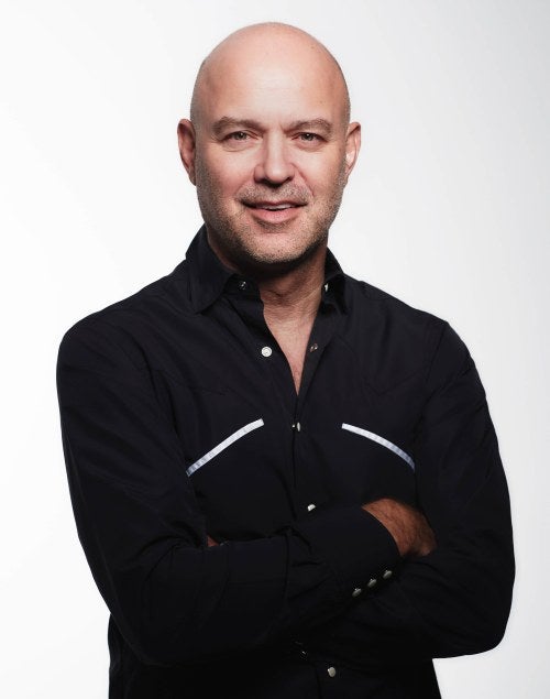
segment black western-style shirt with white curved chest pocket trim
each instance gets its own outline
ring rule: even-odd
[[[66,334],[57,379],[111,699],[428,699],[432,657],[502,637],[509,504],[474,363],[330,252],[298,395],[204,230]],[[382,496],[421,509],[437,549],[402,560],[361,507]]]

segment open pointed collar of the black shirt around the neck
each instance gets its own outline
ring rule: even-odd
[[[191,307],[195,313],[201,313],[208,306],[211,306],[219,298],[228,283],[232,284],[246,281],[239,274],[227,267],[208,244],[206,227],[202,226],[193,239],[187,253],[186,260],[189,270],[189,292]],[[344,273],[330,250],[327,250],[327,260],[324,263],[324,282],[322,299],[326,303],[336,303],[345,309],[344,305]],[[255,286],[255,285],[254,285]]]

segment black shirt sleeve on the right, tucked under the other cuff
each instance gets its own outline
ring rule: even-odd
[[[447,324],[436,345],[415,462],[437,549],[405,563],[306,643],[358,668],[487,651],[508,619],[510,510],[485,392]]]

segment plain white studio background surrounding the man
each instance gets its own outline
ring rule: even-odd
[[[332,230],[354,276],[447,318],[487,390],[518,575],[508,632],[446,699],[550,696],[550,3],[0,2],[0,693],[107,696],[55,396],[63,332],[172,271],[199,226],[176,123],[200,59],[279,20],[340,59],[364,148]]]

